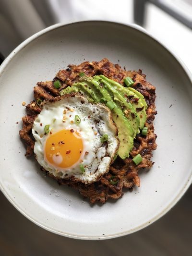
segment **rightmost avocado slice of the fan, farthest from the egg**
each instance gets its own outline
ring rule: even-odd
[[[107,78],[106,76],[104,76],[104,75],[99,75],[99,76],[102,79],[109,82],[111,85],[113,85],[115,87],[115,89],[120,91],[122,94],[125,94],[128,98],[131,98],[130,101],[131,101],[133,107],[135,108],[135,110],[137,111],[137,115],[140,119],[139,128],[143,129],[144,123],[146,121],[146,111],[145,111],[145,108],[144,108],[144,104],[143,104],[143,102],[140,98],[136,102],[134,102],[132,100],[134,98],[138,98],[139,96],[136,95],[133,91],[129,90],[129,88],[120,85],[119,83]],[[146,102],[145,102],[145,104],[146,104]]]

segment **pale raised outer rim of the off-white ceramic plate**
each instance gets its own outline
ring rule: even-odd
[[[180,64],[180,67],[183,69],[183,71],[186,73],[186,75],[188,76],[189,80],[191,81],[192,84],[192,73],[189,71],[189,69],[187,68],[187,66],[185,65],[185,63],[180,59],[180,57],[172,50],[170,49],[170,47],[167,47],[164,43],[160,42],[159,40],[156,39],[156,37],[154,37],[153,35],[151,35],[150,33],[148,33],[143,27],[137,25],[137,24],[125,24],[125,23],[119,23],[119,22],[112,22],[112,21],[103,21],[103,20],[84,20],[84,21],[78,21],[78,22],[71,22],[71,23],[58,23],[58,24],[54,24],[51,25],[39,32],[37,32],[36,34],[32,35],[31,37],[28,37],[27,39],[25,39],[19,46],[17,46],[15,49],[12,50],[12,52],[7,56],[7,58],[1,63],[0,65],[0,76],[3,73],[3,70],[6,68],[6,66],[8,65],[8,63],[12,60],[12,58],[14,58],[14,56],[22,49],[24,49],[29,43],[31,43],[33,40],[35,40],[36,38],[52,31],[55,30],[59,27],[62,26],[70,26],[73,24],[83,24],[83,23],[90,23],[90,22],[94,22],[94,23],[105,23],[105,24],[118,24],[121,26],[127,26],[127,27],[131,27],[132,29],[138,30],[141,33],[145,34],[146,36],[150,37],[151,39],[153,39],[156,43],[159,44],[159,46],[161,46],[163,49],[165,49],[170,55],[172,55],[174,57],[174,59]],[[75,239],[81,239],[81,240],[105,240],[105,239],[111,239],[111,238],[116,238],[116,237],[120,237],[120,236],[124,236],[124,235],[128,235],[131,234],[133,232],[137,232],[145,227],[147,227],[148,225],[152,224],[153,222],[155,222],[157,219],[161,218],[163,215],[165,215],[182,197],[182,195],[184,195],[184,193],[187,191],[187,189],[189,188],[189,186],[192,183],[192,174],[190,175],[190,177],[188,178],[187,182],[185,183],[185,185],[182,187],[182,189],[180,190],[179,194],[171,201],[171,203],[169,203],[169,205],[163,209],[158,215],[156,215],[154,218],[152,218],[150,221],[145,222],[144,224],[134,228],[134,229],[130,229],[128,231],[124,231],[124,232],[119,232],[119,233],[115,233],[115,234],[111,234],[108,236],[84,236],[84,235],[76,235],[76,234],[71,234],[71,233],[65,233],[65,232],[60,232],[54,229],[51,229],[41,223],[39,223],[36,219],[33,219],[32,217],[30,217],[26,212],[24,212],[19,206],[17,206],[17,204],[12,200],[12,198],[6,193],[5,189],[3,188],[2,184],[0,183],[0,190],[1,192],[5,195],[5,197],[10,201],[10,203],[12,203],[12,205],[19,211],[21,212],[27,219],[31,220],[33,223],[35,223],[37,226],[49,231],[49,232],[53,232],[55,234],[59,234],[62,236],[66,236],[69,238],[75,238]]]

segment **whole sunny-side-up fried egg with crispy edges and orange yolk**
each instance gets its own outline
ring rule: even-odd
[[[82,183],[108,172],[119,146],[110,110],[79,94],[43,104],[32,134],[36,159],[44,169]]]

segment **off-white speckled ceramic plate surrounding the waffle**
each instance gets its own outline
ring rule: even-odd
[[[33,158],[24,157],[19,130],[25,114],[22,102],[32,100],[37,81],[52,80],[68,64],[104,57],[128,70],[142,69],[156,86],[158,147],[154,167],[140,174],[140,188],[125,191],[117,201],[92,206],[73,189],[45,177]],[[81,22],[37,33],[1,65],[0,98],[0,189],[28,219],[51,232],[80,239],[135,232],[173,207],[191,183],[190,74],[166,48],[134,26]]]

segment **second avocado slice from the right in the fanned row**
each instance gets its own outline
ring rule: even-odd
[[[116,90],[115,87],[112,86],[108,81],[102,79],[98,75],[94,76],[94,79],[96,79],[99,83],[102,83],[108,92],[112,92],[113,100],[116,102],[118,107],[122,109],[123,112],[128,111],[125,116],[127,117],[127,119],[129,120],[132,126],[132,129],[134,131],[134,137],[135,137],[139,131],[140,119],[133,105],[130,102],[127,102],[123,94],[121,94],[120,91]]]

